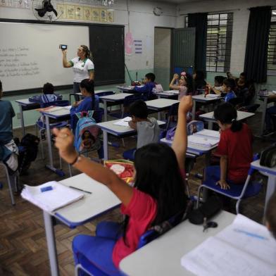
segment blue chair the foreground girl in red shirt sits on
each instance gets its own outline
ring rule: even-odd
[[[191,204],[188,204],[187,210],[191,208]],[[137,245],[137,249],[142,248],[146,244],[149,244],[149,242],[152,242],[157,237],[160,237],[162,234],[165,234],[165,232],[168,232],[172,227],[175,227],[180,222],[182,222],[186,218],[187,210],[185,212],[177,213],[176,215],[172,216],[169,220],[165,220],[160,225],[156,225],[154,227],[151,227],[151,229],[147,230],[139,239],[139,243]],[[183,215],[184,213],[184,215]],[[75,266],[75,276],[80,275],[91,275],[91,276],[109,276],[109,274],[106,274],[106,272],[103,272],[99,268],[94,265],[94,263],[90,262],[88,258],[85,256],[78,256],[80,263],[78,263]],[[110,274],[112,276],[119,276],[124,275],[123,272],[113,272]]]

